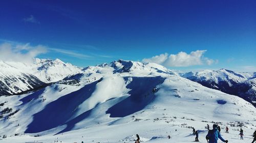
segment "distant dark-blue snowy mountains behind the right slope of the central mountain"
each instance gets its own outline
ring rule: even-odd
[[[256,84],[254,73],[236,73],[226,69],[188,72],[182,77],[196,81],[205,87],[237,95],[256,106]]]

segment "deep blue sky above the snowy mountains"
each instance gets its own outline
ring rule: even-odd
[[[3,1],[0,44],[29,43],[20,54],[41,45],[47,52],[33,56],[82,67],[123,59],[256,71],[255,8],[256,1]]]

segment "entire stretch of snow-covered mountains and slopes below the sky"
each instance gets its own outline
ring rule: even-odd
[[[178,74],[155,63],[124,60],[86,68],[58,59],[1,66],[0,135],[10,138],[4,142],[134,142],[136,133],[144,142],[166,142],[162,135],[169,130],[188,141],[191,127],[205,136],[206,123],[248,132],[256,124],[255,73]],[[240,84],[250,87],[241,89],[244,95],[224,93]],[[224,85],[227,91],[221,91]]]

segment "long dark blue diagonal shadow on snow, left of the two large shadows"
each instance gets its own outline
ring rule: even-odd
[[[25,133],[46,131],[65,124],[73,116],[78,105],[92,95],[97,83],[98,81],[87,84],[80,90],[62,96],[46,105],[43,110],[33,115],[33,121],[28,125]],[[88,114],[90,114],[90,111],[68,122],[67,128],[63,131],[72,129],[75,123],[86,118]]]

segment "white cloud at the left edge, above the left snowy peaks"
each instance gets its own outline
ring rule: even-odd
[[[18,45],[3,43],[0,45],[0,60],[31,63],[37,55],[46,52],[47,47],[42,45],[31,46],[29,43]]]

